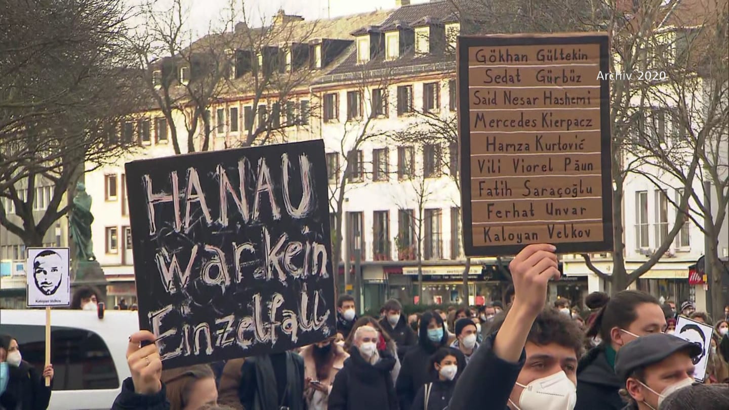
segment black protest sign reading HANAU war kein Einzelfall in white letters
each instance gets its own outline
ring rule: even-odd
[[[321,141],[126,164],[140,328],[165,368],[335,333]]]

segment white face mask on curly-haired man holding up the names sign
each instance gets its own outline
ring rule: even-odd
[[[572,410],[577,403],[577,387],[564,371],[542,377],[524,386],[519,396],[518,410]]]

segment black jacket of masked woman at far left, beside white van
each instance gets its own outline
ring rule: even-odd
[[[18,367],[9,366],[7,389],[0,406],[7,410],[45,410],[50,403],[51,387],[46,387],[42,372],[23,360]]]

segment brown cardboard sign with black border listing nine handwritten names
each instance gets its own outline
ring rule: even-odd
[[[607,34],[461,36],[457,53],[466,255],[612,251]]]

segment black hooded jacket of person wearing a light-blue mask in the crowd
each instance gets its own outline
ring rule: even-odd
[[[439,344],[434,344],[428,339],[428,324],[432,319],[435,319],[443,328],[443,337],[440,339]],[[460,350],[448,347],[448,332],[445,330],[445,325],[443,325],[443,319],[440,318],[440,315],[434,314],[433,312],[424,313],[423,317],[421,317],[419,330],[418,344],[405,353],[400,374],[397,376],[397,384],[395,384],[400,409],[410,409],[415,400],[416,392],[424,384],[435,381],[429,368],[429,360],[437,349],[441,347],[451,349],[453,356],[458,360],[458,368],[463,369],[466,367],[466,357],[464,357],[463,353]]]

